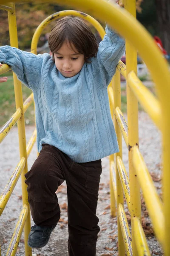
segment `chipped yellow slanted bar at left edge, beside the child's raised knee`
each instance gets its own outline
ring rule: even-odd
[[[26,159],[23,157],[20,162],[18,163],[16,169],[14,170],[13,174],[11,175],[5,189],[3,190],[2,194],[0,195],[0,215],[3,213],[4,208],[17,184],[17,181],[23,172],[24,166],[26,163]]]

